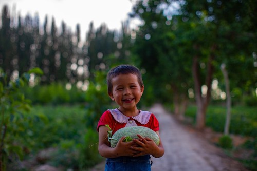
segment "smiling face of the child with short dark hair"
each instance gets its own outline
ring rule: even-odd
[[[140,86],[137,75],[120,74],[112,79],[113,90],[109,97],[114,100],[122,111],[137,109],[144,87]]]

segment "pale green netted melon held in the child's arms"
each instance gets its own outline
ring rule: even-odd
[[[115,134],[110,138],[111,147],[115,147],[119,139],[123,136],[126,137],[124,142],[128,142],[132,141],[133,139],[138,139],[138,134],[142,137],[152,139],[157,145],[160,143],[159,136],[152,129],[144,126],[129,126],[121,128],[115,132]]]

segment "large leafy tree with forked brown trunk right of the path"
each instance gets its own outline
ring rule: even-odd
[[[249,5],[254,6],[254,1],[199,1],[195,3],[195,1],[189,0],[185,5],[181,6],[182,16],[186,17],[187,22],[189,24],[198,24],[194,31],[203,30],[203,34],[198,34],[199,37],[192,46],[196,52],[193,57],[192,72],[197,103],[197,127],[199,129],[205,127],[206,109],[210,101],[211,81],[213,74],[217,72],[219,64],[224,60],[228,63],[233,60],[239,62],[239,56],[247,59],[249,58],[249,49],[251,49],[250,53],[253,52],[253,49],[249,47],[251,47],[251,40],[255,33],[252,35],[248,32],[249,28],[244,26],[246,21],[249,22],[245,13],[252,12],[246,12]],[[252,13],[249,14],[252,15]],[[202,40],[201,43],[197,43],[199,38]],[[238,50],[239,48],[240,50]],[[238,55],[238,52],[241,54]],[[200,79],[199,72],[200,65],[203,62],[207,66],[205,72],[207,94],[204,98],[201,92],[203,82]],[[253,64],[253,61],[251,64]],[[244,69],[241,68],[241,71]]]

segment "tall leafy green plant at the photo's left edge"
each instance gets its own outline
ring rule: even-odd
[[[0,169],[5,170],[7,158],[12,154],[23,157],[21,145],[28,139],[24,138],[27,127],[31,125],[31,117],[26,115],[31,108],[30,101],[20,90],[29,82],[30,73],[42,74],[34,68],[22,74],[20,78],[9,81],[7,74],[0,68]]]

